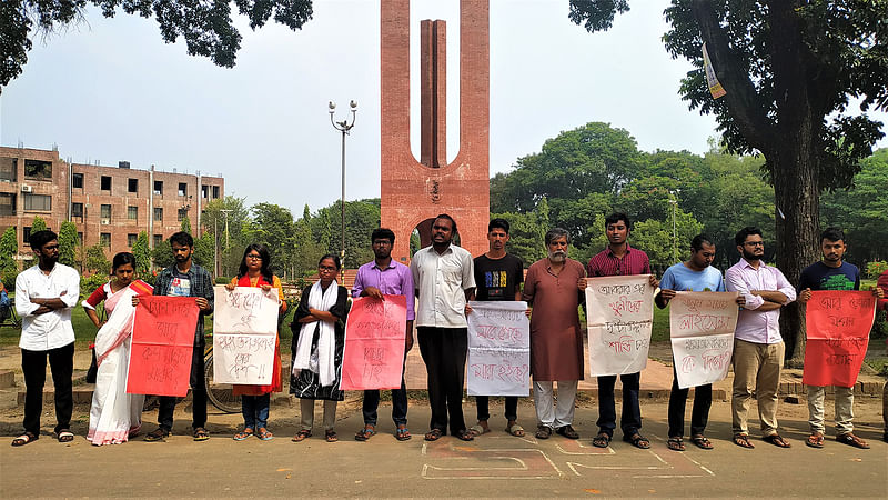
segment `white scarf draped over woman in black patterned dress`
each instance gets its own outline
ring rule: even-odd
[[[330,311],[339,299],[339,283],[333,280],[324,291],[321,281],[316,281],[309,291],[309,307],[319,311]],[[315,327],[319,329],[316,362],[313,362],[312,337]],[[293,359],[293,374],[299,376],[301,370],[311,370],[321,379],[321,387],[330,387],[336,381],[336,338],[335,328],[329,321],[312,321],[302,323],[299,331],[296,356]]]

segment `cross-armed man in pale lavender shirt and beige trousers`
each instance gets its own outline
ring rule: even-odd
[[[734,443],[749,442],[747,414],[753,392],[758,400],[758,419],[765,442],[789,448],[777,432],[777,389],[784,366],[780,308],[796,300],[796,289],[779,269],[761,261],[765,242],[758,228],[743,228],[734,238],[743,258],[725,273],[728,291],[745,299],[734,333],[734,394],[730,400]]]

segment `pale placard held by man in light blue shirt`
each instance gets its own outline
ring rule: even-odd
[[[734,352],[737,292],[676,292],[669,301],[669,337],[678,387],[724,380]]]

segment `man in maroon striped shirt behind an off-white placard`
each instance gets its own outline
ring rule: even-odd
[[[650,261],[647,253],[629,247],[628,238],[632,231],[632,221],[625,213],[612,213],[604,221],[607,234],[607,248],[589,259],[587,274],[589,278],[604,276],[633,276],[650,274],[650,286],[656,288],[659,282],[650,272]],[[638,406],[638,387],[642,373],[624,373],[619,376],[623,383],[623,416],[619,427],[623,430],[623,440],[634,446],[647,449],[650,441],[642,436],[642,409]],[[598,377],[598,436],[592,443],[598,448],[607,448],[614,438],[617,412],[614,401],[614,386],[616,376]]]

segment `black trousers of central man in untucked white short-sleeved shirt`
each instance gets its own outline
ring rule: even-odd
[[[451,434],[465,431],[463,418],[463,382],[468,333],[465,328],[418,327],[420,353],[428,374],[428,403],[432,406],[430,428]]]

